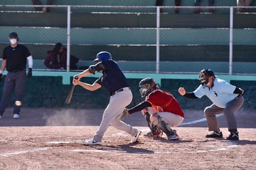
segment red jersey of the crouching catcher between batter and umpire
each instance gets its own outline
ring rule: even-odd
[[[155,109],[158,107],[160,112],[171,112],[176,115],[184,117],[184,112],[180,107],[178,101],[171,95],[170,92],[161,91],[157,89],[146,97],[146,101],[150,102]],[[162,109],[159,110],[159,107]]]

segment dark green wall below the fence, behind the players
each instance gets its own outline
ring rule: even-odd
[[[96,78],[83,78],[86,83],[93,83]],[[134,95],[134,99],[129,107],[139,104],[144,101],[139,93],[139,81],[141,79],[128,79],[129,84]],[[71,81],[71,79],[70,79]],[[0,91],[4,80],[0,83]],[[256,81],[231,81],[231,84],[244,89],[245,102],[244,109],[256,109]],[[198,79],[162,79],[162,89],[169,91],[180,102],[183,109],[196,109],[203,110],[204,107],[211,104],[208,98],[202,99],[186,99],[178,94],[178,87],[186,87],[187,91],[193,91],[199,86]],[[65,104],[65,98],[70,91],[71,85],[63,85],[62,77],[49,77],[49,76],[34,76],[27,79],[23,107],[66,107],[66,108],[105,108],[109,102],[109,94],[105,89],[98,89],[97,91],[87,91],[80,86],[75,88],[71,104]],[[10,107],[14,105],[14,94],[12,94]]]

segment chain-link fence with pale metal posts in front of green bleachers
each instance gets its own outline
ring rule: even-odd
[[[50,6],[50,12],[34,7],[0,6],[0,49],[9,45],[9,33],[17,32],[32,53],[34,69],[49,70],[47,51],[60,42],[80,59],[79,70],[92,65],[99,51],[109,51],[130,73],[211,68],[256,74],[256,15],[238,13],[236,7],[200,7],[200,14],[194,14],[195,7],[179,7],[186,12],[175,14],[174,6]]]

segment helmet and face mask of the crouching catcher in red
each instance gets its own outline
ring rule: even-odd
[[[141,97],[148,96],[159,84],[156,84],[152,78],[142,79],[139,83]]]

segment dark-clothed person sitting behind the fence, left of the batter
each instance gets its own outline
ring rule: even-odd
[[[76,63],[79,58],[70,55],[70,69],[78,69]],[[44,65],[50,69],[66,69],[66,48],[62,43],[56,43],[53,50],[47,51],[47,58],[45,58]]]

